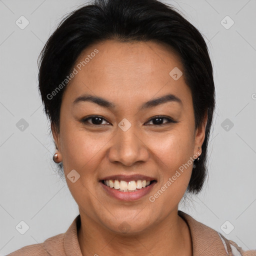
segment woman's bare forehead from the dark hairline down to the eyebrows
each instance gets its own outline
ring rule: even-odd
[[[170,75],[175,68],[183,71],[179,56],[156,41],[95,43],[81,52],[73,68],[77,72],[64,93],[70,99],[87,92],[120,103],[166,93],[190,97],[183,75],[177,80]]]

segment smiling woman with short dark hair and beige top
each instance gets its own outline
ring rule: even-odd
[[[256,255],[178,210],[206,175],[215,107],[198,30],[157,0],[97,0],[66,17],[39,89],[79,215],[17,255]]]

